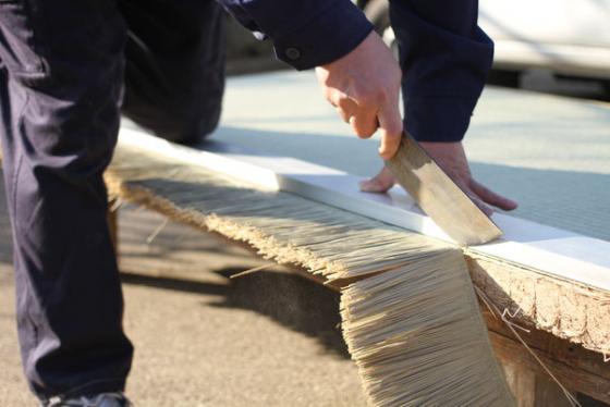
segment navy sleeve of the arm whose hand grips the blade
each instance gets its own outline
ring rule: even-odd
[[[257,38],[270,38],[277,58],[300,71],[347,54],[373,29],[350,0],[219,2]]]

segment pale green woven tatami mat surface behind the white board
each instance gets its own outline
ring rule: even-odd
[[[378,141],[351,134],[313,73],[231,78],[212,139],[363,176],[381,165]],[[476,177],[518,200],[515,215],[610,240],[610,104],[490,87],[465,145]]]

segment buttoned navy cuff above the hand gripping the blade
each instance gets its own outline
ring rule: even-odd
[[[371,30],[358,8],[347,0],[335,1],[305,27],[274,38],[276,57],[298,71],[309,70],[350,53]]]

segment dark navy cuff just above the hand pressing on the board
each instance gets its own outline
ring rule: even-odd
[[[411,98],[404,127],[417,141],[456,143],[468,130],[477,98]]]

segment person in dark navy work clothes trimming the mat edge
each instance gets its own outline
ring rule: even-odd
[[[222,0],[391,157],[404,126],[480,205],[461,139],[491,65],[477,0],[394,0],[400,65],[350,0]],[[126,406],[133,347],[102,172],[123,113],[188,143],[217,125],[223,12],[210,0],[0,1],[0,138],[14,236],[19,340],[44,406]],[[383,170],[362,185],[385,192]],[[87,404],[88,403],[88,404]]]

